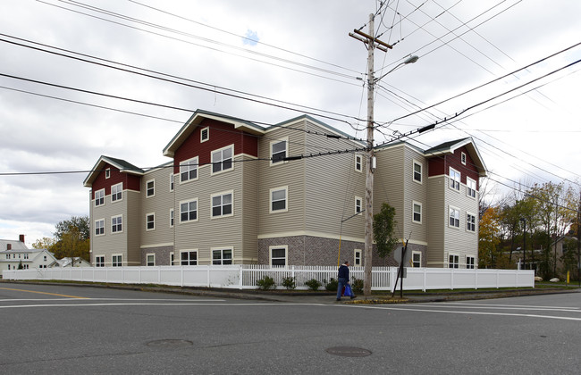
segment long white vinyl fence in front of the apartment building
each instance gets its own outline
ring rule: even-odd
[[[363,267],[350,267],[350,279],[363,279]],[[408,268],[403,280],[404,290],[464,289],[483,287],[535,287],[534,271],[526,270],[460,270],[449,268]],[[372,290],[393,291],[397,267],[374,267]],[[257,280],[269,276],[276,287],[282,279],[295,278],[297,289],[307,289],[305,282],[317,279],[323,286],[337,279],[334,266],[267,265],[198,265],[154,267],[86,267],[48,268],[35,270],[4,270],[3,278],[10,280],[71,280],[118,284],[159,284],[180,287],[223,287],[256,289]],[[398,288],[400,285],[398,284]],[[323,288],[323,287],[322,287]]]

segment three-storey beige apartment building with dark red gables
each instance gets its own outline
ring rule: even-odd
[[[91,263],[333,265],[341,238],[341,261],[363,265],[365,143],[349,138],[306,115],[265,129],[198,111],[165,146],[171,162],[101,156],[84,181]],[[375,154],[374,210],[395,207],[414,265],[476,267],[485,167],[472,139]]]

